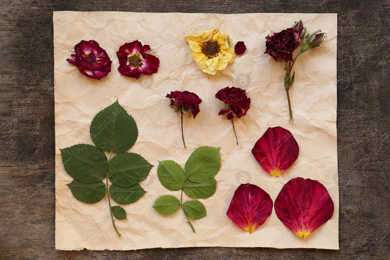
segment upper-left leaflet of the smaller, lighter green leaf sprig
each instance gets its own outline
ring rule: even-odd
[[[186,181],[183,168],[174,161],[161,161],[157,168],[157,176],[160,183],[168,190],[181,190]]]

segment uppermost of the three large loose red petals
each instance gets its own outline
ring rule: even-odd
[[[289,130],[276,126],[257,140],[252,154],[266,172],[278,177],[298,158],[299,146]]]

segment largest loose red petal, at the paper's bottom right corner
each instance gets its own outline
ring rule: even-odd
[[[330,220],[334,205],[323,184],[301,177],[286,183],[275,200],[275,212],[298,237],[305,238]]]

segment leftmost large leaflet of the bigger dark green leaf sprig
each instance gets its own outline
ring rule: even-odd
[[[105,153],[90,144],[76,144],[60,149],[65,170],[74,179],[83,183],[97,183],[107,173]]]

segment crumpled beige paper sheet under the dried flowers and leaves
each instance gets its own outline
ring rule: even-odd
[[[290,124],[284,66],[264,54],[264,37],[300,19],[305,21],[307,32],[322,29],[327,37],[321,47],[300,55],[294,65],[295,83],[290,91],[294,123]],[[334,83],[337,14],[54,12],[53,22],[57,249],[190,246],[339,249]],[[213,28],[230,35],[233,44],[244,41],[248,48],[214,76],[198,69],[184,40],[184,35]],[[101,81],[77,73],[77,68],[66,61],[75,44],[92,39],[113,61],[112,71]],[[160,58],[158,72],[141,75],[138,80],[119,74],[115,54],[119,46],[137,39],[150,45]],[[234,119],[238,146],[231,122],[218,116],[225,105],[215,98],[215,93],[226,86],[245,88],[252,101],[248,114]],[[196,119],[191,114],[184,116],[187,149],[181,141],[180,114],[168,106],[165,97],[174,90],[195,92],[203,100]],[[128,220],[115,221],[122,237],[118,237],[112,226],[107,197],[95,204],[85,204],[73,197],[66,186],[73,178],[64,170],[59,150],[78,143],[93,144],[89,135],[92,119],[117,99],[137,122],[138,140],[130,151],[155,165],[140,183],[147,193],[133,204],[121,205],[128,213]],[[279,177],[266,173],[251,153],[255,142],[273,126],[289,129],[300,146],[296,162]],[[181,209],[172,216],[162,216],[152,208],[161,195],[180,197],[180,191],[169,191],[161,185],[156,166],[158,160],[169,159],[184,167],[193,150],[204,145],[221,147],[222,167],[215,177],[218,181],[215,195],[200,199],[207,216],[192,221],[196,229],[192,233]],[[306,239],[285,227],[275,210],[253,234],[226,216],[239,184],[256,184],[275,201],[283,185],[294,177],[318,180],[335,203],[332,218]],[[189,199],[183,196],[183,200]]]

